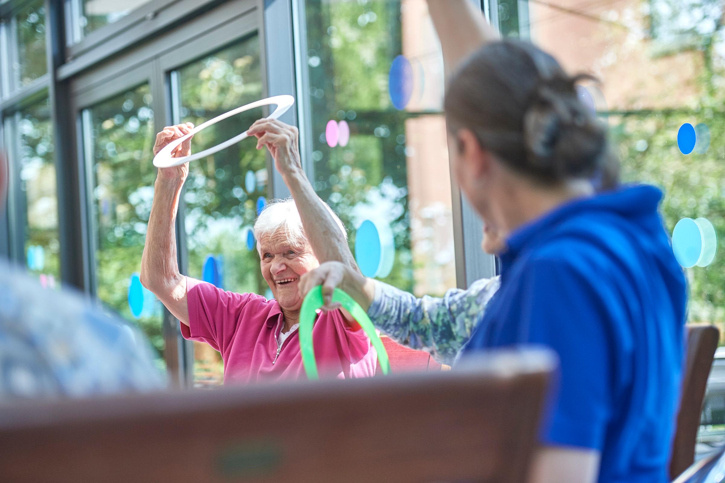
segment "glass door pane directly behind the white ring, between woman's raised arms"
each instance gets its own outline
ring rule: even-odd
[[[174,73],[182,122],[199,125],[262,98],[260,42],[257,35],[205,56]],[[194,136],[194,151],[233,138],[264,116],[254,109],[225,119]],[[268,197],[264,150],[245,140],[191,163],[186,181],[187,273],[237,293],[267,293],[260,258],[247,232],[257,217],[256,204]],[[250,240],[251,241],[251,240]],[[216,276],[215,274],[218,274]],[[223,365],[206,344],[194,346],[197,386],[218,385]]]

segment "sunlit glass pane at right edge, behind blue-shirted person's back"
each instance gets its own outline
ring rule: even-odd
[[[521,25],[568,72],[599,77],[599,85],[584,85],[580,95],[608,122],[624,180],[650,182],[665,191],[661,208],[674,233],[675,253],[697,245],[693,256],[678,257],[689,267],[688,322],[716,324],[722,337],[725,247],[718,237],[725,235],[720,142],[725,135],[725,5],[711,0],[560,5],[566,9],[529,2],[529,20]],[[724,356],[716,356],[711,377],[721,377]],[[702,442],[723,440],[721,388],[708,385],[703,423]]]

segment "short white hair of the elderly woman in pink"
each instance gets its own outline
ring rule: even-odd
[[[328,206],[327,203],[320,200],[320,203],[325,205],[325,208],[332,215],[337,226],[340,227],[342,235],[347,240],[347,230],[345,225],[342,224],[337,214]],[[265,209],[257,217],[257,221],[254,222],[254,238],[257,239],[257,251],[262,254],[262,248],[260,247],[260,236],[270,233],[275,233],[283,230],[287,235],[287,240],[293,245],[307,245],[307,236],[305,235],[305,229],[302,227],[302,219],[299,217],[299,211],[297,211],[297,204],[294,203],[294,198],[284,198],[283,200],[270,200],[268,201]]]

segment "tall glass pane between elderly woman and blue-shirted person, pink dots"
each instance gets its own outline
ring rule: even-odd
[[[363,273],[442,295],[456,285],[455,253],[443,62],[426,1],[305,4],[315,190],[349,228]]]

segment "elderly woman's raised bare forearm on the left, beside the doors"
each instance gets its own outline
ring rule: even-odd
[[[181,180],[156,180],[141,258],[141,282],[174,316],[188,324],[186,277],[179,272],[176,259],[175,219],[182,186]]]

